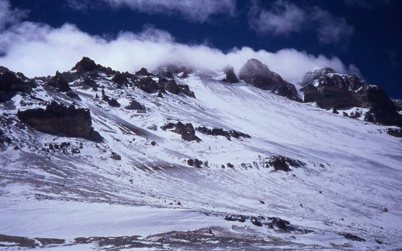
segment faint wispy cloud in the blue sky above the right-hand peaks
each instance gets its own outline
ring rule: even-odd
[[[335,17],[319,7],[303,9],[286,1],[276,1],[270,10],[254,1],[249,13],[250,28],[263,36],[288,35],[314,29],[322,44],[348,41],[354,29],[344,18]]]

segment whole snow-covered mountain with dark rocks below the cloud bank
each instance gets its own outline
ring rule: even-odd
[[[402,132],[365,114],[402,115],[331,70],[297,96],[255,60],[240,81],[88,58],[53,77],[0,68],[0,248],[400,248]],[[349,92],[372,95],[339,105]]]

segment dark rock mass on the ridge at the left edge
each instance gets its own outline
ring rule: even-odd
[[[36,84],[22,73],[15,73],[0,66],[0,102],[6,101],[17,92],[30,93]]]

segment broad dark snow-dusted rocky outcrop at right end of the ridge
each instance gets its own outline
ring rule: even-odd
[[[316,102],[321,108],[370,108],[364,120],[384,125],[402,126],[394,102],[378,86],[369,85],[356,75],[336,73],[323,67],[309,72],[300,82],[305,102]]]

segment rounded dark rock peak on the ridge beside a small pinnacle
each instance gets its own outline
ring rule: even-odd
[[[263,90],[287,97],[295,101],[301,101],[293,84],[284,81],[279,74],[269,70],[256,59],[249,59],[240,69],[239,78],[247,84]]]

